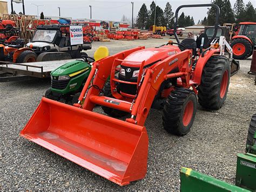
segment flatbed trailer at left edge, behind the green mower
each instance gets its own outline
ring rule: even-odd
[[[22,81],[33,78],[49,78],[52,70],[75,59],[41,61],[32,63],[10,63],[0,61],[0,83]]]

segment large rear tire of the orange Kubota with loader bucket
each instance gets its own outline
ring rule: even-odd
[[[212,56],[206,63],[198,86],[199,104],[210,110],[221,108],[230,85],[230,63],[224,56]]]

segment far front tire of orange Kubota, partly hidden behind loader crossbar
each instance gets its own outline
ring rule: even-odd
[[[111,86],[110,86],[110,81],[109,80],[104,85],[103,94],[106,97],[113,98],[112,93],[111,93]],[[118,109],[114,109],[114,108],[110,108],[110,107],[106,107],[106,106],[102,106],[102,109],[106,114],[108,114],[108,115],[110,115],[114,118],[121,118],[122,116],[125,116],[125,115],[128,114],[127,112],[120,111]]]

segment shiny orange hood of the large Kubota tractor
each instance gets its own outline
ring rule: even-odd
[[[177,52],[180,52],[179,48],[173,45],[143,49],[129,54],[129,56],[124,59],[121,65],[129,67],[140,67],[142,64],[141,62],[145,60],[144,66],[146,66],[156,63],[159,60],[164,60],[165,58],[170,57]]]

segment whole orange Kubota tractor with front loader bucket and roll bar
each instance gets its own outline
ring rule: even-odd
[[[198,47],[192,38],[179,42],[178,11],[199,6],[216,8],[214,35],[210,40],[198,37]],[[42,98],[21,135],[121,186],[143,179],[149,142],[144,123],[150,108],[163,108],[167,132],[185,135],[196,115],[197,95],[204,108],[219,109],[230,82],[231,61],[211,45],[219,7],[182,5],[175,17],[178,43],[136,47],[95,61],[78,103]],[[96,105],[110,116],[93,112]],[[125,121],[113,118],[121,115],[127,115]]]

